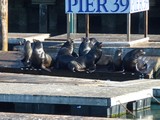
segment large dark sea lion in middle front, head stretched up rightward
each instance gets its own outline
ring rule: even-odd
[[[68,69],[72,72],[86,71],[87,73],[96,70],[96,63],[102,55],[102,42],[96,42],[92,49],[83,56],[80,56],[68,64]]]

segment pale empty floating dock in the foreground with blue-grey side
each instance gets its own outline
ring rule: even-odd
[[[13,73],[0,76],[0,102],[12,103],[9,112],[33,112],[34,107],[36,113],[111,117],[126,113],[126,108],[148,108],[153,95],[160,93],[160,81],[155,79],[115,82]]]

